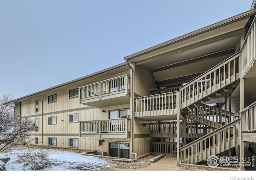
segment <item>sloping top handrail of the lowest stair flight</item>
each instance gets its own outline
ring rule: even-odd
[[[194,145],[198,144],[198,142],[200,142],[202,140],[206,140],[207,138],[210,138],[210,137],[222,132],[222,130],[230,128],[231,126],[234,126],[235,124],[238,124],[238,123],[240,123],[240,119],[234,120],[233,122],[230,122],[230,123],[226,124],[225,126],[222,126],[221,128],[216,129],[212,133],[206,134],[206,135],[202,136],[201,138],[198,138],[197,140],[194,140],[193,142],[191,142],[191,143],[183,146],[182,148],[180,148],[180,151],[183,151],[183,150],[185,150],[185,149],[187,149],[191,146],[194,146]]]

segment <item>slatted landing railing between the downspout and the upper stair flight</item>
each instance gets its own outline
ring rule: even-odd
[[[134,98],[135,117],[176,113],[176,92]]]

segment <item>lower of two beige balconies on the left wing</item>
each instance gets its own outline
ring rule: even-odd
[[[130,119],[107,119],[80,122],[80,137],[129,138]]]

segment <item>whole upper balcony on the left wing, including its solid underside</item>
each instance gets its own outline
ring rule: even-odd
[[[123,75],[79,88],[80,103],[96,108],[130,103],[130,76]]]

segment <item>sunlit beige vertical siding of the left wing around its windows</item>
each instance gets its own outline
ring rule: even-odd
[[[108,76],[97,81],[93,81],[87,84],[92,84],[94,82],[106,80],[116,76],[121,76],[124,74],[130,74],[130,71],[116,74],[113,76]],[[43,101],[43,127],[42,127],[42,102],[39,101],[38,112],[35,112],[35,102],[34,99],[25,100],[21,103],[21,114],[23,117],[28,116],[29,119],[35,122],[38,118],[38,131],[30,132],[30,138],[33,140],[29,144],[35,143],[35,138],[38,138],[38,145],[48,146],[48,138],[56,138],[56,146],[60,148],[71,148],[69,147],[69,139],[75,138],[78,139],[78,149],[83,150],[102,150],[108,152],[108,142],[130,142],[130,138],[120,139],[120,138],[104,138],[104,142],[99,144],[100,138],[81,138],[80,133],[80,121],[89,121],[89,120],[102,120],[108,119],[108,113],[110,110],[119,110],[130,108],[129,104],[119,105],[119,106],[110,106],[104,108],[94,108],[80,104],[79,97],[69,98],[69,91],[79,88],[87,84],[80,84],[78,86],[73,86],[63,90],[58,90],[46,94],[44,96],[39,96],[33,98],[38,98]],[[57,95],[57,101],[48,103],[48,96]],[[105,110],[105,112],[102,112]],[[69,115],[78,114],[78,122],[70,123]],[[56,116],[56,124],[48,124],[48,117]],[[42,129],[43,129],[43,143],[42,142]],[[70,134],[70,136],[69,136]],[[74,134],[76,134],[74,136]],[[102,139],[102,138],[101,138]]]

